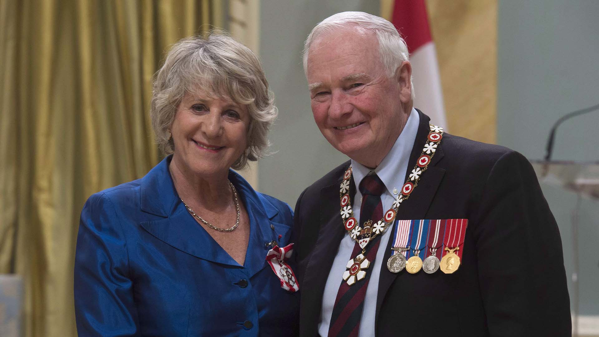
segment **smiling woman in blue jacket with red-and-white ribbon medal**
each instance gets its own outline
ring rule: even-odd
[[[295,335],[292,210],[231,170],[265,154],[277,116],[258,58],[224,35],[186,38],[153,89],[152,125],[170,155],[83,207],[79,335]]]

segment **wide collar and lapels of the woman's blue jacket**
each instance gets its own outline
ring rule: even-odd
[[[179,198],[168,171],[171,156],[165,158],[141,179],[141,210],[157,215],[153,221],[140,222],[141,227],[156,238],[180,251],[204,260],[240,267],[224,249],[187,212]],[[265,266],[265,242],[276,240],[277,234],[288,230],[273,218],[277,208],[258,194],[243,177],[229,170],[229,180],[238,190],[246,206],[250,224],[250,239],[243,268],[251,276]],[[272,225],[272,226],[271,226]],[[274,230],[270,228],[274,227]]]

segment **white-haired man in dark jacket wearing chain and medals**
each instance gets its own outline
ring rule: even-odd
[[[413,109],[391,23],[323,20],[304,70],[314,121],[350,161],[297,201],[301,336],[570,335],[561,239],[533,169]]]

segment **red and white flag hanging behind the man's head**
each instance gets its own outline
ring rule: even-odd
[[[437,52],[428,26],[424,0],[395,0],[391,22],[406,40],[414,76],[414,107],[447,131]]]

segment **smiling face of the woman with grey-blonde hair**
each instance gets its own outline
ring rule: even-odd
[[[250,116],[246,106],[206,96],[187,93],[181,100],[171,125],[171,165],[201,177],[226,177],[247,148]]]

